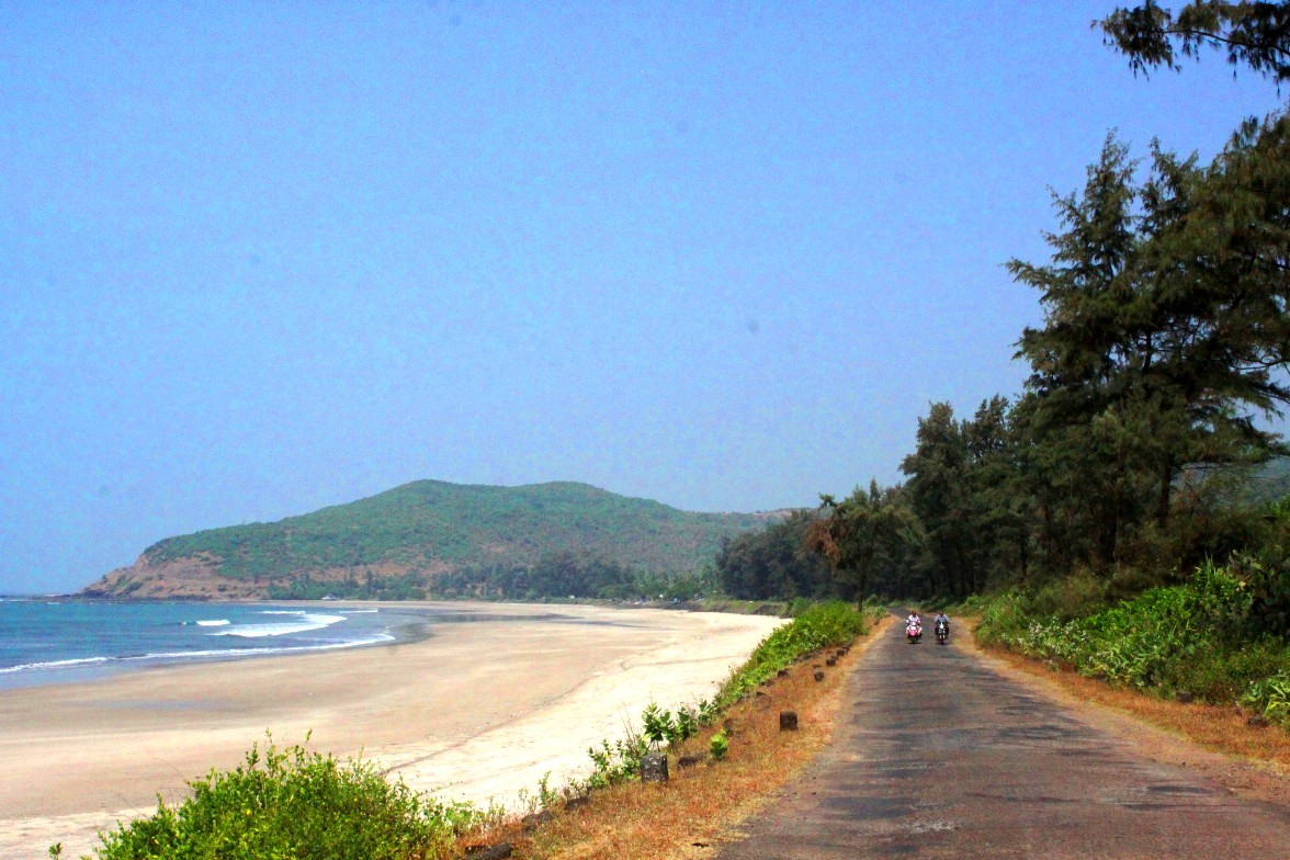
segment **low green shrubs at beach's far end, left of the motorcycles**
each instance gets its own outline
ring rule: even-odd
[[[866,615],[850,603],[831,601],[813,606],[761,641],[748,661],[721,686],[717,707],[729,707],[802,656],[849,645],[867,629]]]

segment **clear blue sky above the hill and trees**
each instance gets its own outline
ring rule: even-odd
[[[417,478],[897,480],[1020,388],[1050,187],[1281,101],[1113,5],[0,4],[0,592]]]

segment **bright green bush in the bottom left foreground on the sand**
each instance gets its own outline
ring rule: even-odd
[[[101,860],[413,860],[446,856],[480,814],[391,784],[366,762],[253,747],[233,771],[188,784],[178,806],[102,834]],[[160,798],[159,798],[160,799]]]

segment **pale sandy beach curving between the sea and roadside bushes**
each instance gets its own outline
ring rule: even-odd
[[[650,701],[710,696],[779,619],[452,605],[421,642],[166,667],[0,692],[0,857],[88,852],[99,829],[183,797],[272,731],[388,767],[419,790],[513,805]]]

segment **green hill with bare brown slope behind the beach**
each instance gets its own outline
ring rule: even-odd
[[[428,581],[579,553],[633,570],[688,571],[765,513],[689,513],[586,484],[519,487],[415,481],[279,522],[161,540],[85,589],[108,597],[259,597],[308,579]],[[343,591],[343,589],[339,589]]]

